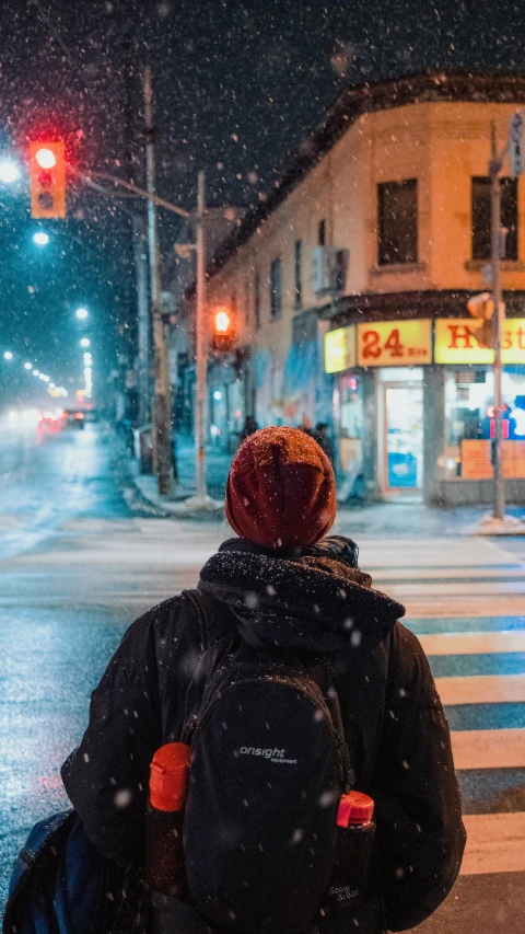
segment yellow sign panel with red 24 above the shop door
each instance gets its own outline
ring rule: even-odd
[[[419,367],[431,362],[431,321],[374,321],[358,324],[360,367]]]

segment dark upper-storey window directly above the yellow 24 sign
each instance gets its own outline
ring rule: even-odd
[[[418,182],[377,185],[381,266],[418,262]]]

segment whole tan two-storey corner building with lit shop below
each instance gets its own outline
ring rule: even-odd
[[[208,268],[235,315],[210,420],[327,422],[341,496],[490,503],[493,354],[467,299],[487,289],[492,124],[525,74],[425,73],[351,88]],[[525,193],[502,172],[508,498],[525,503]],[[217,416],[219,418],[219,415]],[[215,429],[217,430],[217,429]]]

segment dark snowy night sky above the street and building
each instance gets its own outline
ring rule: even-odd
[[[32,135],[59,131],[72,164],[142,183],[140,73],[149,62],[160,194],[191,207],[203,168],[211,203],[248,204],[347,84],[423,68],[521,69],[524,35],[520,0],[10,0],[0,26],[0,150],[23,157]],[[57,379],[75,372],[75,304],[93,309],[105,368],[115,335],[120,345],[132,338],[135,318],[124,208],[137,203],[73,184],[68,208],[67,221],[47,222],[52,243],[37,253],[26,178],[0,187],[0,347],[25,342]],[[167,251],[177,221],[162,214],[161,224]],[[5,390],[4,371],[0,357]]]

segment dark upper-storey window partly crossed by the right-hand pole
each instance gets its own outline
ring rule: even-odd
[[[504,260],[517,260],[517,178],[500,178]],[[472,178],[472,260],[490,260],[490,178]]]

